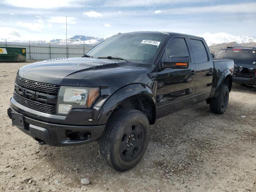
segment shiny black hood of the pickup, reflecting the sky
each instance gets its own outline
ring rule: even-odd
[[[110,70],[125,70],[140,64],[96,58],[59,58],[23,66],[18,76],[36,82],[56,85],[79,86],[82,79]]]

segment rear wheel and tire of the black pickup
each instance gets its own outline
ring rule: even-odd
[[[228,106],[229,90],[228,86],[222,85],[217,98],[210,100],[210,110],[216,114],[223,114]]]

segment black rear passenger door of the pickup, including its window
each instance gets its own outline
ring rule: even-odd
[[[210,51],[204,40],[201,38],[189,38],[189,43],[196,65],[195,94],[201,94],[199,100],[205,100],[209,98],[212,90],[212,78],[214,70],[213,61],[209,55]]]

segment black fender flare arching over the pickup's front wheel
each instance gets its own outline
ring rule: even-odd
[[[102,106],[102,110],[98,115],[98,118],[95,122],[96,125],[106,124],[108,118],[112,114],[112,112],[116,109],[116,107],[122,103],[127,98],[130,98],[135,95],[144,95],[147,96],[154,102],[155,105],[155,114],[156,114],[156,100],[154,98],[154,92],[148,86],[143,84],[130,84],[124,86],[114,92],[108,100]]]

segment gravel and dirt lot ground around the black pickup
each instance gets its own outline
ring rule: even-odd
[[[0,63],[0,191],[256,192],[252,89],[234,85],[223,115],[202,102],[157,120],[142,161],[120,173],[102,164],[98,144],[40,146],[11,125],[6,110],[25,64]],[[81,186],[81,178],[91,184]]]

